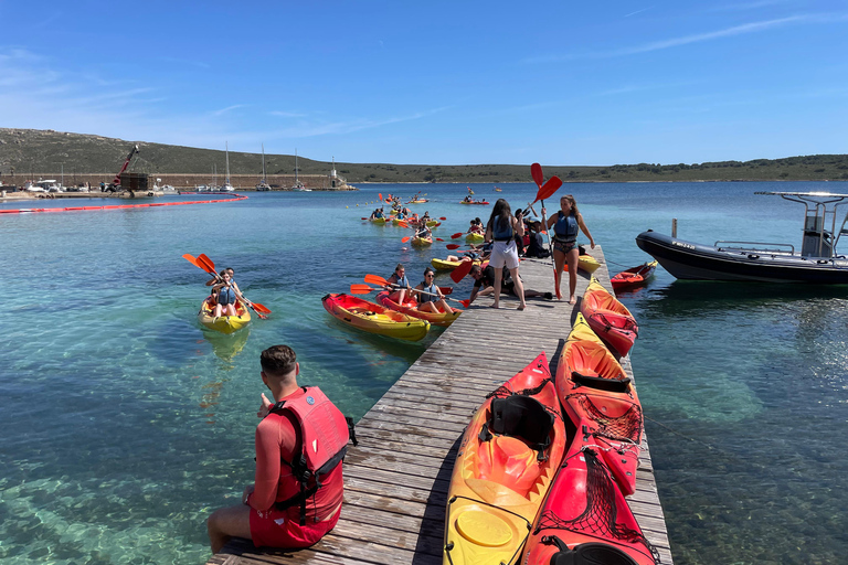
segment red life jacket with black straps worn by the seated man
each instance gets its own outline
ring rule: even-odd
[[[300,504],[300,525],[306,523],[306,502],[322,487],[321,479],[330,473],[348,451],[348,440],[357,445],[353,420],[336,407],[317,386],[304,386],[301,396],[282,401],[271,407],[269,414],[289,412],[300,426],[300,443],[295,446],[293,461],[282,459],[292,468],[300,492],[277,502],[278,510]]]

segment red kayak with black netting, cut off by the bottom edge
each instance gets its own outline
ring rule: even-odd
[[[522,565],[659,563],[601,451],[572,444],[533,524]]]

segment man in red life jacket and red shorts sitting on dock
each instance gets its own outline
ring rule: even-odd
[[[209,516],[212,553],[231,537],[256,546],[308,547],[339,521],[348,423],[318,387],[297,385],[296,359],[288,345],[262,352],[262,381],[276,404],[262,395],[255,483],[244,489],[242,504]]]

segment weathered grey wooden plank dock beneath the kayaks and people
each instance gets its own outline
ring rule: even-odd
[[[592,255],[602,264],[595,277],[612,289],[601,248],[595,247]],[[524,288],[553,290],[551,269],[545,260],[523,260]],[[579,297],[587,284],[581,274]],[[568,278],[562,289],[568,296]],[[257,550],[247,541],[234,540],[209,564],[441,564],[447,489],[471,415],[486,394],[542,350],[555,374],[577,311],[568,302],[542,298],[528,299],[524,311],[516,310],[513,297],[501,297],[499,310],[486,308],[489,303],[490,298],[475,302],[357,424],[359,446],[349,448],[344,460],[344,505],[329,535],[298,552]],[[622,365],[633,375],[629,358]],[[647,439],[636,493],[628,502],[661,563],[670,565]]]

